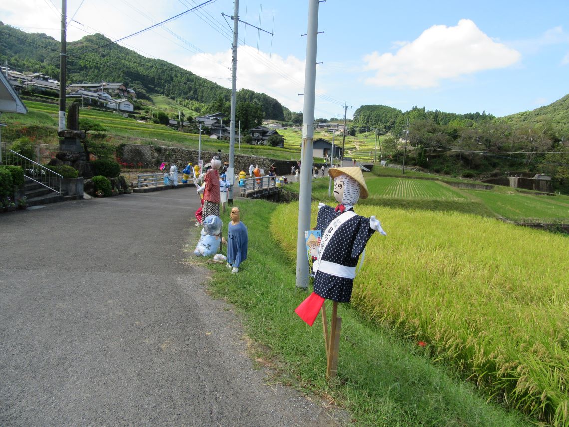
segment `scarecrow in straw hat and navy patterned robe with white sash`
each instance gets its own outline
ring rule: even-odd
[[[322,309],[328,353],[327,376],[331,377],[336,373],[341,327],[337,303],[350,301],[356,265],[370,237],[376,231],[384,236],[386,232],[375,216],[360,216],[353,210],[360,198],[366,199],[369,195],[361,169],[334,167],[329,169],[328,174],[334,179],[334,198],[339,204],[333,208],[320,203],[318,207],[316,229],[322,232],[322,239],[318,260],[314,263],[314,292],[295,311],[312,326]],[[325,299],[334,302],[330,336],[325,318]]]

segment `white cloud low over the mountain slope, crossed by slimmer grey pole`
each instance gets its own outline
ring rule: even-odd
[[[220,64],[224,64],[220,68]],[[216,54],[193,55],[180,67],[189,69],[198,76],[227,77],[212,80],[226,88],[231,87],[231,50]],[[222,67],[225,67],[225,71]],[[277,99],[292,111],[302,111],[304,99],[298,96],[304,91],[304,60],[288,56],[267,55],[255,48],[240,46],[237,49],[237,90],[246,88],[264,92]]]

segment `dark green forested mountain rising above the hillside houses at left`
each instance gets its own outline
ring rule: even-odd
[[[67,44],[67,84],[124,83],[137,97],[150,94],[170,97],[184,104],[229,102],[230,89],[196,76],[159,59],[145,58],[118,46],[101,34]],[[0,61],[20,72],[43,72],[59,79],[60,42],[45,34],[28,34],[0,23]],[[265,93],[240,91],[239,98],[261,106],[263,118],[284,120],[282,105]]]

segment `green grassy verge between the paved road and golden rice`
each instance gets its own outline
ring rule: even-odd
[[[237,204],[249,230],[248,259],[237,275],[212,265],[211,290],[244,314],[248,335],[264,344],[262,357],[275,364],[275,381],[346,408],[355,425],[529,425],[518,413],[486,403],[442,363],[432,364],[428,348],[369,323],[348,304],[339,310],[339,375],[327,384],[320,320],[310,327],[294,313],[307,292],[296,288],[294,262],[267,232],[271,221],[282,221],[274,217],[277,205],[262,200]],[[222,219],[226,224],[228,217]],[[197,235],[196,229],[193,244]]]

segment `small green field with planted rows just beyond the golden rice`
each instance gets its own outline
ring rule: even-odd
[[[466,200],[467,197],[438,181],[400,178],[369,180],[370,195],[395,199]]]

